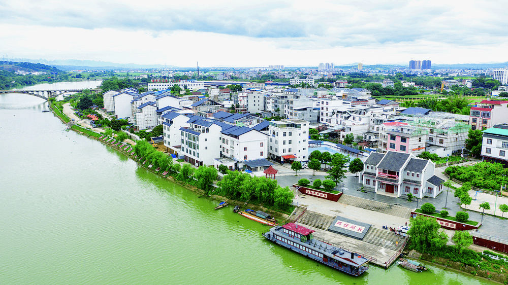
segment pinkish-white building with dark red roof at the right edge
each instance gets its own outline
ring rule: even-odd
[[[469,111],[471,129],[485,130],[508,122],[508,101],[483,100]]]

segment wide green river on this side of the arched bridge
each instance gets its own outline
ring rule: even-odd
[[[351,277],[266,241],[265,226],[0,95],[0,284],[492,284],[428,265]]]

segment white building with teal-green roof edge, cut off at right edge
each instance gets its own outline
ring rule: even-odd
[[[497,124],[483,131],[482,157],[483,161],[508,167],[508,124]]]

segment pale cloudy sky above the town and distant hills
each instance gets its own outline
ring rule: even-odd
[[[177,66],[508,61],[508,1],[0,0],[0,57]]]

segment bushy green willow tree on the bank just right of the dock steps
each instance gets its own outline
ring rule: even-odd
[[[407,234],[418,252],[426,253],[431,248],[440,248],[448,241],[448,235],[439,231],[441,226],[436,218],[417,216],[411,219],[410,226]]]

